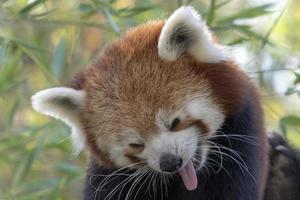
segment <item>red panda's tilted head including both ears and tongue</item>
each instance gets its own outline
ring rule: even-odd
[[[191,7],[132,29],[80,80],[37,93],[33,107],[70,125],[75,150],[87,147],[102,165],[183,179],[205,165],[206,142],[239,109],[246,82]]]

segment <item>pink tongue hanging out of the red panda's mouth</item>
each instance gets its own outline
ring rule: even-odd
[[[198,180],[192,160],[179,170],[179,174],[186,189],[192,191],[197,188]]]

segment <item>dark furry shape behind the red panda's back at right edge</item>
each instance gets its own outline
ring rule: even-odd
[[[265,200],[300,199],[300,152],[291,147],[282,136],[272,133],[270,143],[270,170]]]

